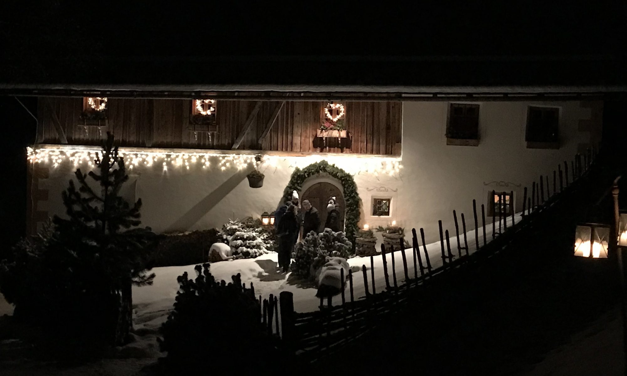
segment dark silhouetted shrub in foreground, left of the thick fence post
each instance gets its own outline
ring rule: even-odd
[[[196,279],[189,279],[187,272],[177,278],[180,288],[174,310],[161,326],[167,367],[249,374],[280,364],[273,338],[260,323],[255,292],[243,288],[240,274],[228,285],[219,283],[209,266],[196,265]],[[245,362],[234,365],[228,360],[231,353],[242,350]]]

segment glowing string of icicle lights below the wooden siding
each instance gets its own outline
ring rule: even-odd
[[[27,148],[27,158],[31,163],[50,164],[58,168],[61,164],[72,164],[73,167],[94,167],[99,149],[70,149],[70,148]],[[119,149],[120,157],[129,170],[142,168],[160,168],[164,172],[172,169],[191,170],[227,170],[247,169],[255,165],[255,158],[261,157],[260,168],[268,172],[280,168],[304,168],[308,165],[326,160],[335,164],[349,174],[369,173],[374,175],[398,174],[401,165],[400,158],[394,157],[362,157],[355,155],[306,155],[282,156],[266,154],[217,154],[204,152],[148,152],[143,150]],[[263,172],[263,170],[262,170]]]

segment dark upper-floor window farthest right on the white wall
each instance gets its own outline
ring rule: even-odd
[[[532,149],[559,149],[559,108],[530,106],[525,141]]]

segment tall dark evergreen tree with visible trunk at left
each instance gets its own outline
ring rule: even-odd
[[[131,205],[120,196],[129,176],[109,132],[95,169],[88,174],[77,169],[75,176],[78,187],[70,180],[62,194],[68,219],[55,216],[58,232],[52,246],[59,263],[74,265],[65,283],[75,294],[88,296],[88,301],[100,296],[113,302],[117,316],[113,341],[122,344],[132,327],[131,286],[150,285],[154,279],[154,273],[146,273],[147,245],[154,234],[137,227],[141,199]]]

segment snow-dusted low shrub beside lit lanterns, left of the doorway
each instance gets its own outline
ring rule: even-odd
[[[220,236],[233,248],[235,258],[256,258],[268,253],[268,248],[272,248],[274,243],[268,232],[251,220],[229,219],[222,226]]]

